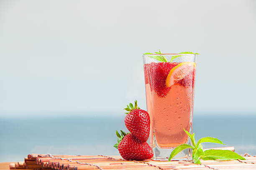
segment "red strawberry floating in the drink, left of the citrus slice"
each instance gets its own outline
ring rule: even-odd
[[[166,87],[166,77],[178,64],[176,62],[151,62],[144,65],[145,82],[150,84],[151,89],[159,97],[165,97],[170,91],[171,87]]]

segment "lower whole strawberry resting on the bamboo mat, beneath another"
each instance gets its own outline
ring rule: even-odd
[[[136,138],[132,133],[121,135],[116,131],[118,136],[118,141],[114,145],[115,148],[118,148],[118,151],[121,157],[125,160],[146,160],[153,157],[153,150],[146,142],[141,142]]]

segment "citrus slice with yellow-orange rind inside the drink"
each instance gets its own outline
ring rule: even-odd
[[[186,77],[193,69],[196,68],[195,62],[181,62],[170,70],[166,78],[166,86],[171,87],[179,80]]]

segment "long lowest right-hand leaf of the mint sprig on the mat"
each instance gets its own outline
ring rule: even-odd
[[[215,156],[219,156],[219,157],[227,158],[229,160],[238,160],[238,159],[246,160],[245,158],[243,158],[242,156],[238,155],[237,153],[235,153],[231,150],[210,149],[210,150],[205,150],[204,153],[205,153],[205,155],[202,158],[205,158],[205,157],[214,158]]]

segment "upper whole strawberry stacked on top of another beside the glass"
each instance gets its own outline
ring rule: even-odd
[[[126,128],[141,142],[146,142],[149,137],[150,130],[150,118],[148,112],[140,109],[137,105],[137,100],[135,101],[135,105],[130,103],[130,107],[127,105],[125,108],[126,115],[125,116],[125,125]]]

